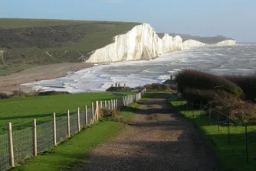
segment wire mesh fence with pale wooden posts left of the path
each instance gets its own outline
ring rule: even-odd
[[[8,123],[8,127],[4,127],[8,134],[0,135],[0,171],[24,163],[31,156],[36,156],[38,153],[54,147],[83,128],[94,124],[100,118],[100,108],[120,110],[124,106],[139,101],[144,93],[146,93],[146,89],[136,95],[97,101],[64,114],[56,115],[54,113],[52,116],[46,117],[51,117],[51,121],[38,125],[36,122],[40,123],[45,118],[14,125]],[[22,124],[26,128],[12,131],[13,127],[22,127]]]

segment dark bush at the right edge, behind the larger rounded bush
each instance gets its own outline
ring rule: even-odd
[[[245,92],[245,98],[256,102],[256,74],[251,76],[224,76]]]

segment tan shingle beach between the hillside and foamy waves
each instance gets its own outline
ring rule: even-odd
[[[57,63],[35,66],[8,76],[0,76],[0,92],[10,94],[11,91],[19,89],[24,92],[32,92],[30,86],[21,86],[21,84],[46,79],[57,79],[67,76],[69,72],[76,72],[92,66],[95,66],[94,63]]]

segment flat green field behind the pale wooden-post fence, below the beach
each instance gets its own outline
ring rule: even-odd
[[[14,126],[14,130],[31,126],[33,119],[38,120],[38,124],[50,121],[51,115],[66,113],[67,109],[71,113],[76,112],[77,107],[84,111],[84,105],[91,106],[92,102],[97,100],[107,100],[111,98],[120,98],[129,92],[120,92],[117,95],[112,93],[80,93],[71,95],[45,95],[26,98],[9,98],[0,100],[0,134],[6,134],[8,122],[19,124]]]

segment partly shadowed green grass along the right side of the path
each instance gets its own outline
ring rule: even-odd
[[[185,103],[185,102],[182,102]],[[186,111],[179,105],[176,98],[171,99],[171,104],[176,107],[185,118],[192,121],[199,127],[199,132],[205,140],[206,144],[215,150],[219,162],[225,170],[256,170],[256,126],[248,127],[248,158],[246,161],[245,153],[245,127],[230,127],[230,143],[228,143],[228,127],[227,124],[211,118],[208,125],[208,115],[200,116],[200,111]],[[218,125],[219,131],[218,131]]]

